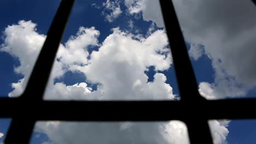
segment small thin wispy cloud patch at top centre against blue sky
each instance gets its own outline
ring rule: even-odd
[[[105,16],[108,22],[114,21],[117,19],[119,15],[123,12],[120,8],[120,1],[110,1],[107,0],[106,2],[102,3],[104,10],[102,14]]]

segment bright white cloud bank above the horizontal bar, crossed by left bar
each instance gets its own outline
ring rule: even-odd
[[[38,34],[35,27],[36,24],[31,21],[20,21],[18,25],[8,26],[4,31],[5,39],[1,45],[1,51],[8,52],[19,59],[21,64],[15,68],[15,71],[24,75],[24,78],[12,84],[14,91],[9,93],[10,96],[20,94],[25,88],[34,61],[45,40],[46,36]],[[54,83],[54,79],[63,76],[67,71],[80,71],[91,83],[101,84],[98,86],[97,93],[101,93],[100,95],[104,93],[106,99],[110,98],[110,95],[113,95],[112,98],[118,98],[123,94],[124,99],[151,99],[156,93],[160,94],[158,97],[160,99],[167,98],[166,95],[170,99],[174,98],[172,87],[165,83],[165,75],[156,73],[155,80],[147,82],[148,77],[144,74],[144,71],[152,65],[157,71],[166,70],[172,64],[164,31],[155,31],[144,38],[141,35],[138,37],[114,28],[113,33],[103,41],[101,46],[97,41],[99,34],[100,32],[94,27],[80,27],[77,34],[71,36],[65,45],[60,45],[49,80],[50,87],[54,85],[57,89],[67,87],[65,83]],[[89,45],[100,46],[98,51],[91,53],[90,59],[87,51]],[[104,71],[103,75],[102,71]],[[83,89],[85,92],[81,95],[89,94],[91,88],[85,85],[87,86],[86,83],[78,83],[69,86],[68,91],[72,91],[72,88]],[[115,92],[117,88],[120,91]],[[155,92],[148,94],[146,89],[154,89]],[[133,94],[134,97],[132,97]],[[46,98],[51,97],[47,95],[51,94],[46,94]],[[139,95],[149,95],[149,97],[140,98]],[[123,98],[120,97],[120,99]]]

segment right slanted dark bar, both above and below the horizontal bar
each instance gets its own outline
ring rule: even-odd
[[[199,92],[197,90],[194,71],[190,63],[187,48],[173,3],[172,1],[160,0],[160,5],[162,15],[164,17],[168,40],[171,45],[174,69],[178,80],[181,100],[190,101],[190,103],[193,103],[193,101],[194,103],[203,103],[205,99],[198,94]],[[186,106],[186,108],[190,109],[191,105]],[[190,119],[190,123],[187,123],[190,143],[213,143],[207,121],[203,121],[203,119],[201,119],[201,123],[195,123],[197,127],[194,127],[194,123],[191,123],[191,121],[197,122]],[[200,130],[200,133],[193,133],[193,131],[197,130]],[[202,137],[204,137],[204,139],[202,139]]]

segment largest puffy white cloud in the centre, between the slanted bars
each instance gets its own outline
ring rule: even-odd
[[[91,83],[101,83],[98,91],[104,90],[104,99],[173,99],[165,75],[156,73],[154,82],[147,82],[144,74],[151,65],[155,70],[170,68],[172,61],[164,31],[139,40],[135,37],[114,28],[100,49],[91,53],[90,64],[72,65],[70,69],[84,73]]]

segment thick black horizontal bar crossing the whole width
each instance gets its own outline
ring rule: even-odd
[[[168,121],[256,118],[256,99],[190,101],[35,101],[0,99],[0,117],[63,121]],[[37,109],[31,111],[31,107]],[[117,110],[118,109],[118,110]]]

